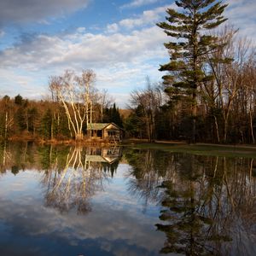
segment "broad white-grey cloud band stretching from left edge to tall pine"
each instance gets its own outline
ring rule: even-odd
[[[81,31],[64,36],[38,35],[4,49],[0,54],[0,67],[37,71],[45,67],[73,67],[74,64],[83,67],[86,64],[97,68],[131,62],[145,53],[154,55],[165,40],[166,35],[156,26],[131,32],[130,35]]]

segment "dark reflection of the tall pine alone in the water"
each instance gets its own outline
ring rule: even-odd
[[[212,215],[212,189],[200,172],[201,165],[195,156],[180,161],[182,180],[162,183],[165,197],[161,202],[161,224],[157,229],[166,233],[165,246],[160,253],[185,255],[218,255],[217,243],[230,241],[216,230],[216,218]],[[213,206],[212,206],[213,207]],[[218,212],[217,212],[218,213]],[[165,223],[165,224],[164,224]]]

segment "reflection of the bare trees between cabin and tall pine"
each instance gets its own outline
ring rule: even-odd
[[[125,158],[132,167],[127,175],[128,190],[131,195],[144,200],[146,211],[148,202],[160,201],[160,184],[164,178],[175,178],[172,170],[177,163],[177,155],[156,150],[128,149]]]

